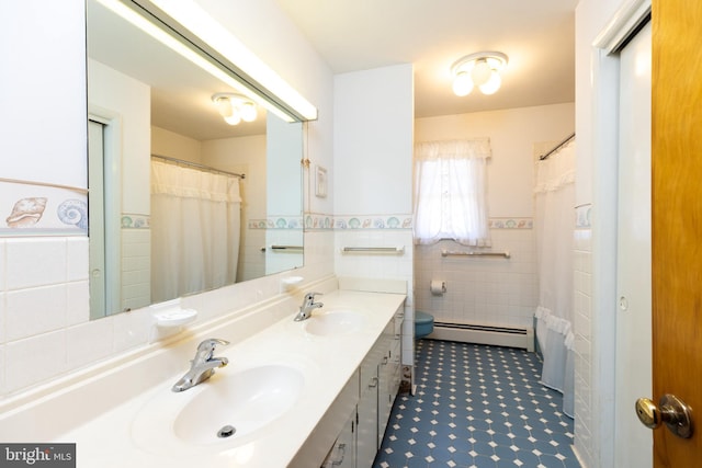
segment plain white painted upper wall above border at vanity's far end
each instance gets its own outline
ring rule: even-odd
[[[412,66],[335,77],[335,214],[411,213]]]

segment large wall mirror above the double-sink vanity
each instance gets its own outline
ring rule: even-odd
[[[106,3],[87,0],[91,318],[302,266],[305,123]]]

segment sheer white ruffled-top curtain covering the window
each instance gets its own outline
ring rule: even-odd
[[[486,160],[488,138],[415,146],[415,243],[453,239],[489,246]]]

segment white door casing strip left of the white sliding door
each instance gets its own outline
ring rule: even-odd
[[[590,415],[593,444],[601,466],[636,449],[616,434],[616,224],[619,152],[619,80],[616,50],[650,12],[652,0],[630,0],[620,8],[592,44],[593,209],[592,209],[592,383]],[[633,402],[631,403],[633,408]],[[632,410],[633,412],[633,410]],[[577,434],[576,434],[577,437]],[[624,457],[625,458],[625,457]]]

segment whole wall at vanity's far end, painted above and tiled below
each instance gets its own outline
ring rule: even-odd
[[[335,77],[335,271],[405,279],[403,363],[414,364],[411,185],[414,76],[397,65]],[[344,247],[404,247],[403,253],[342,253]]]

